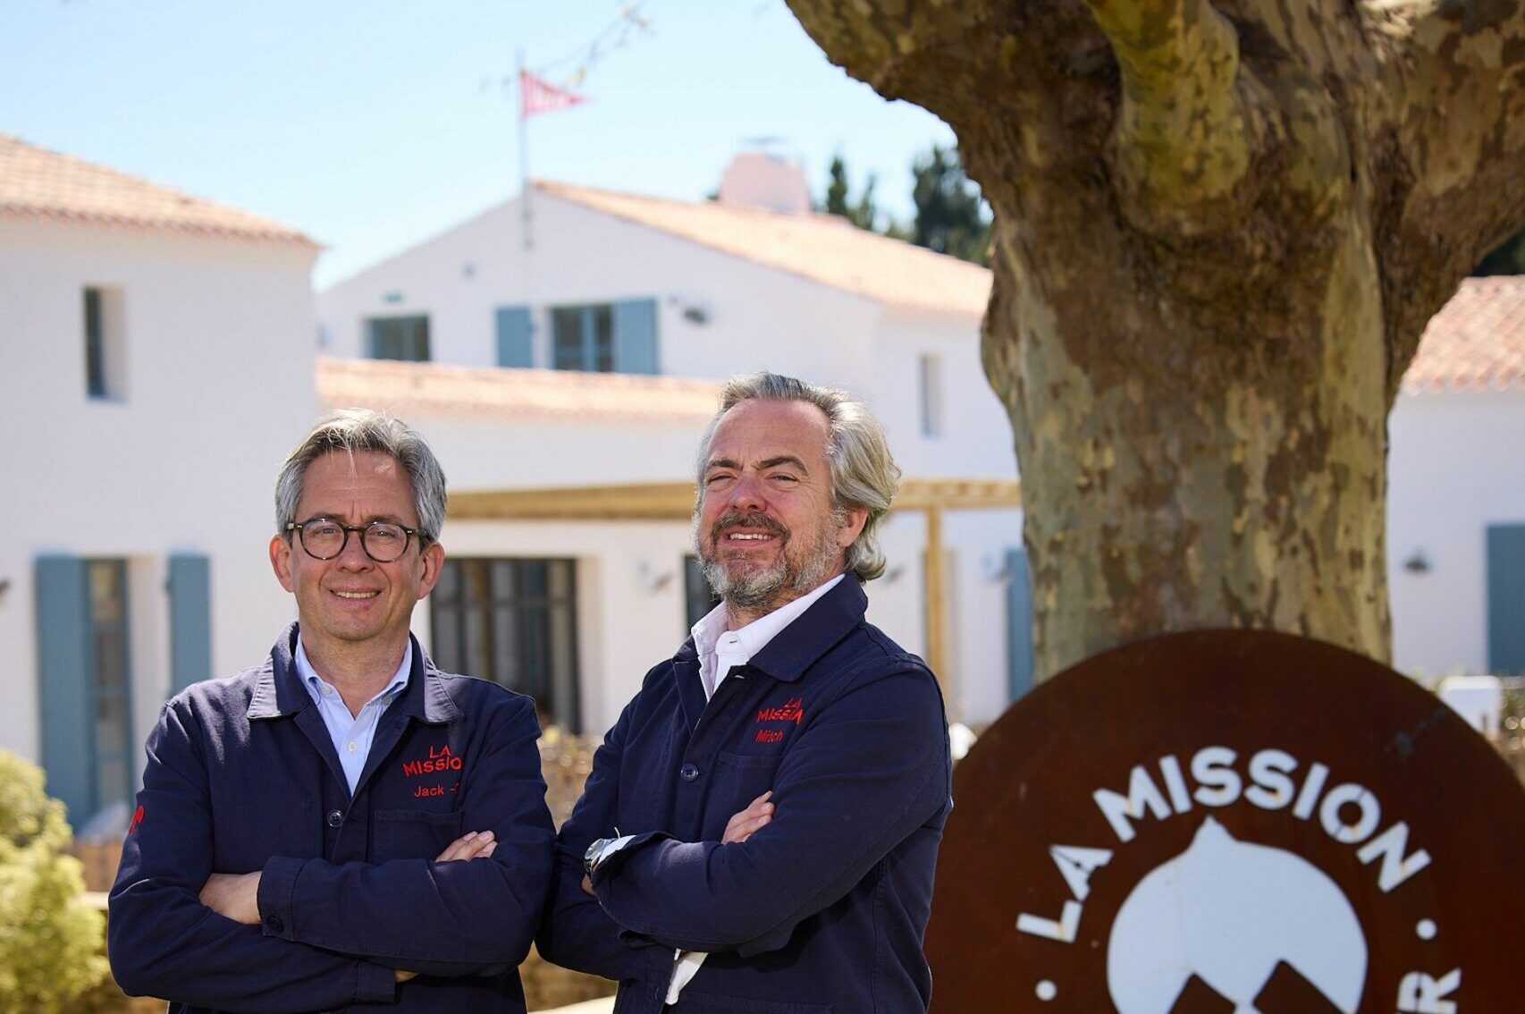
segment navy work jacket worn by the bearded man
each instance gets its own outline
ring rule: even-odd
[[[651,669],[593,756],[561,828],[538,936],[654,1014],[674,948],[709,951],[674,1014],[912,1014],[950,808],[936,679],[865,622],[851,576],[705,701],[694,642]],[[721,845],[773,790],[773,820]],[[637,836],[581,889],[589,843]]]

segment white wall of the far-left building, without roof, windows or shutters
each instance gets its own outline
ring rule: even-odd
[[[214,668],[293,607],[270,573],[274,473],[317,410],[314,249],[8,221],[0,229],[0,747],[41,759],[34,558],[130,561],[134,740],[169,689],[166,557],[212,557]],[[122,297],[124,396],[85,396],[84,288]]]

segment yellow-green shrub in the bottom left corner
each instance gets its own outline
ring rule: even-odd
[[[58,1014],[107,977],[64,804],[43,769],[0,750],[0,1014]]]

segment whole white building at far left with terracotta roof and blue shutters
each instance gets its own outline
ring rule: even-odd
[[[264,544],[317,410],[316,258],[0,134],[0,747],[73,820],[127,799],[177,683],[250,665],[290,616]]]

